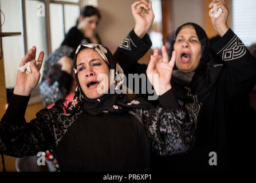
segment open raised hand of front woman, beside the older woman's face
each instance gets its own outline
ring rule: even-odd
[[[161,50],[162,55],[158,54],[158,48],[153,51],[147,67],[147,77],[158,96],[171,89],[172,69],[176,59],[176,51],[172,51],[172,57],[169,61],[166,46],[162,46]]]

